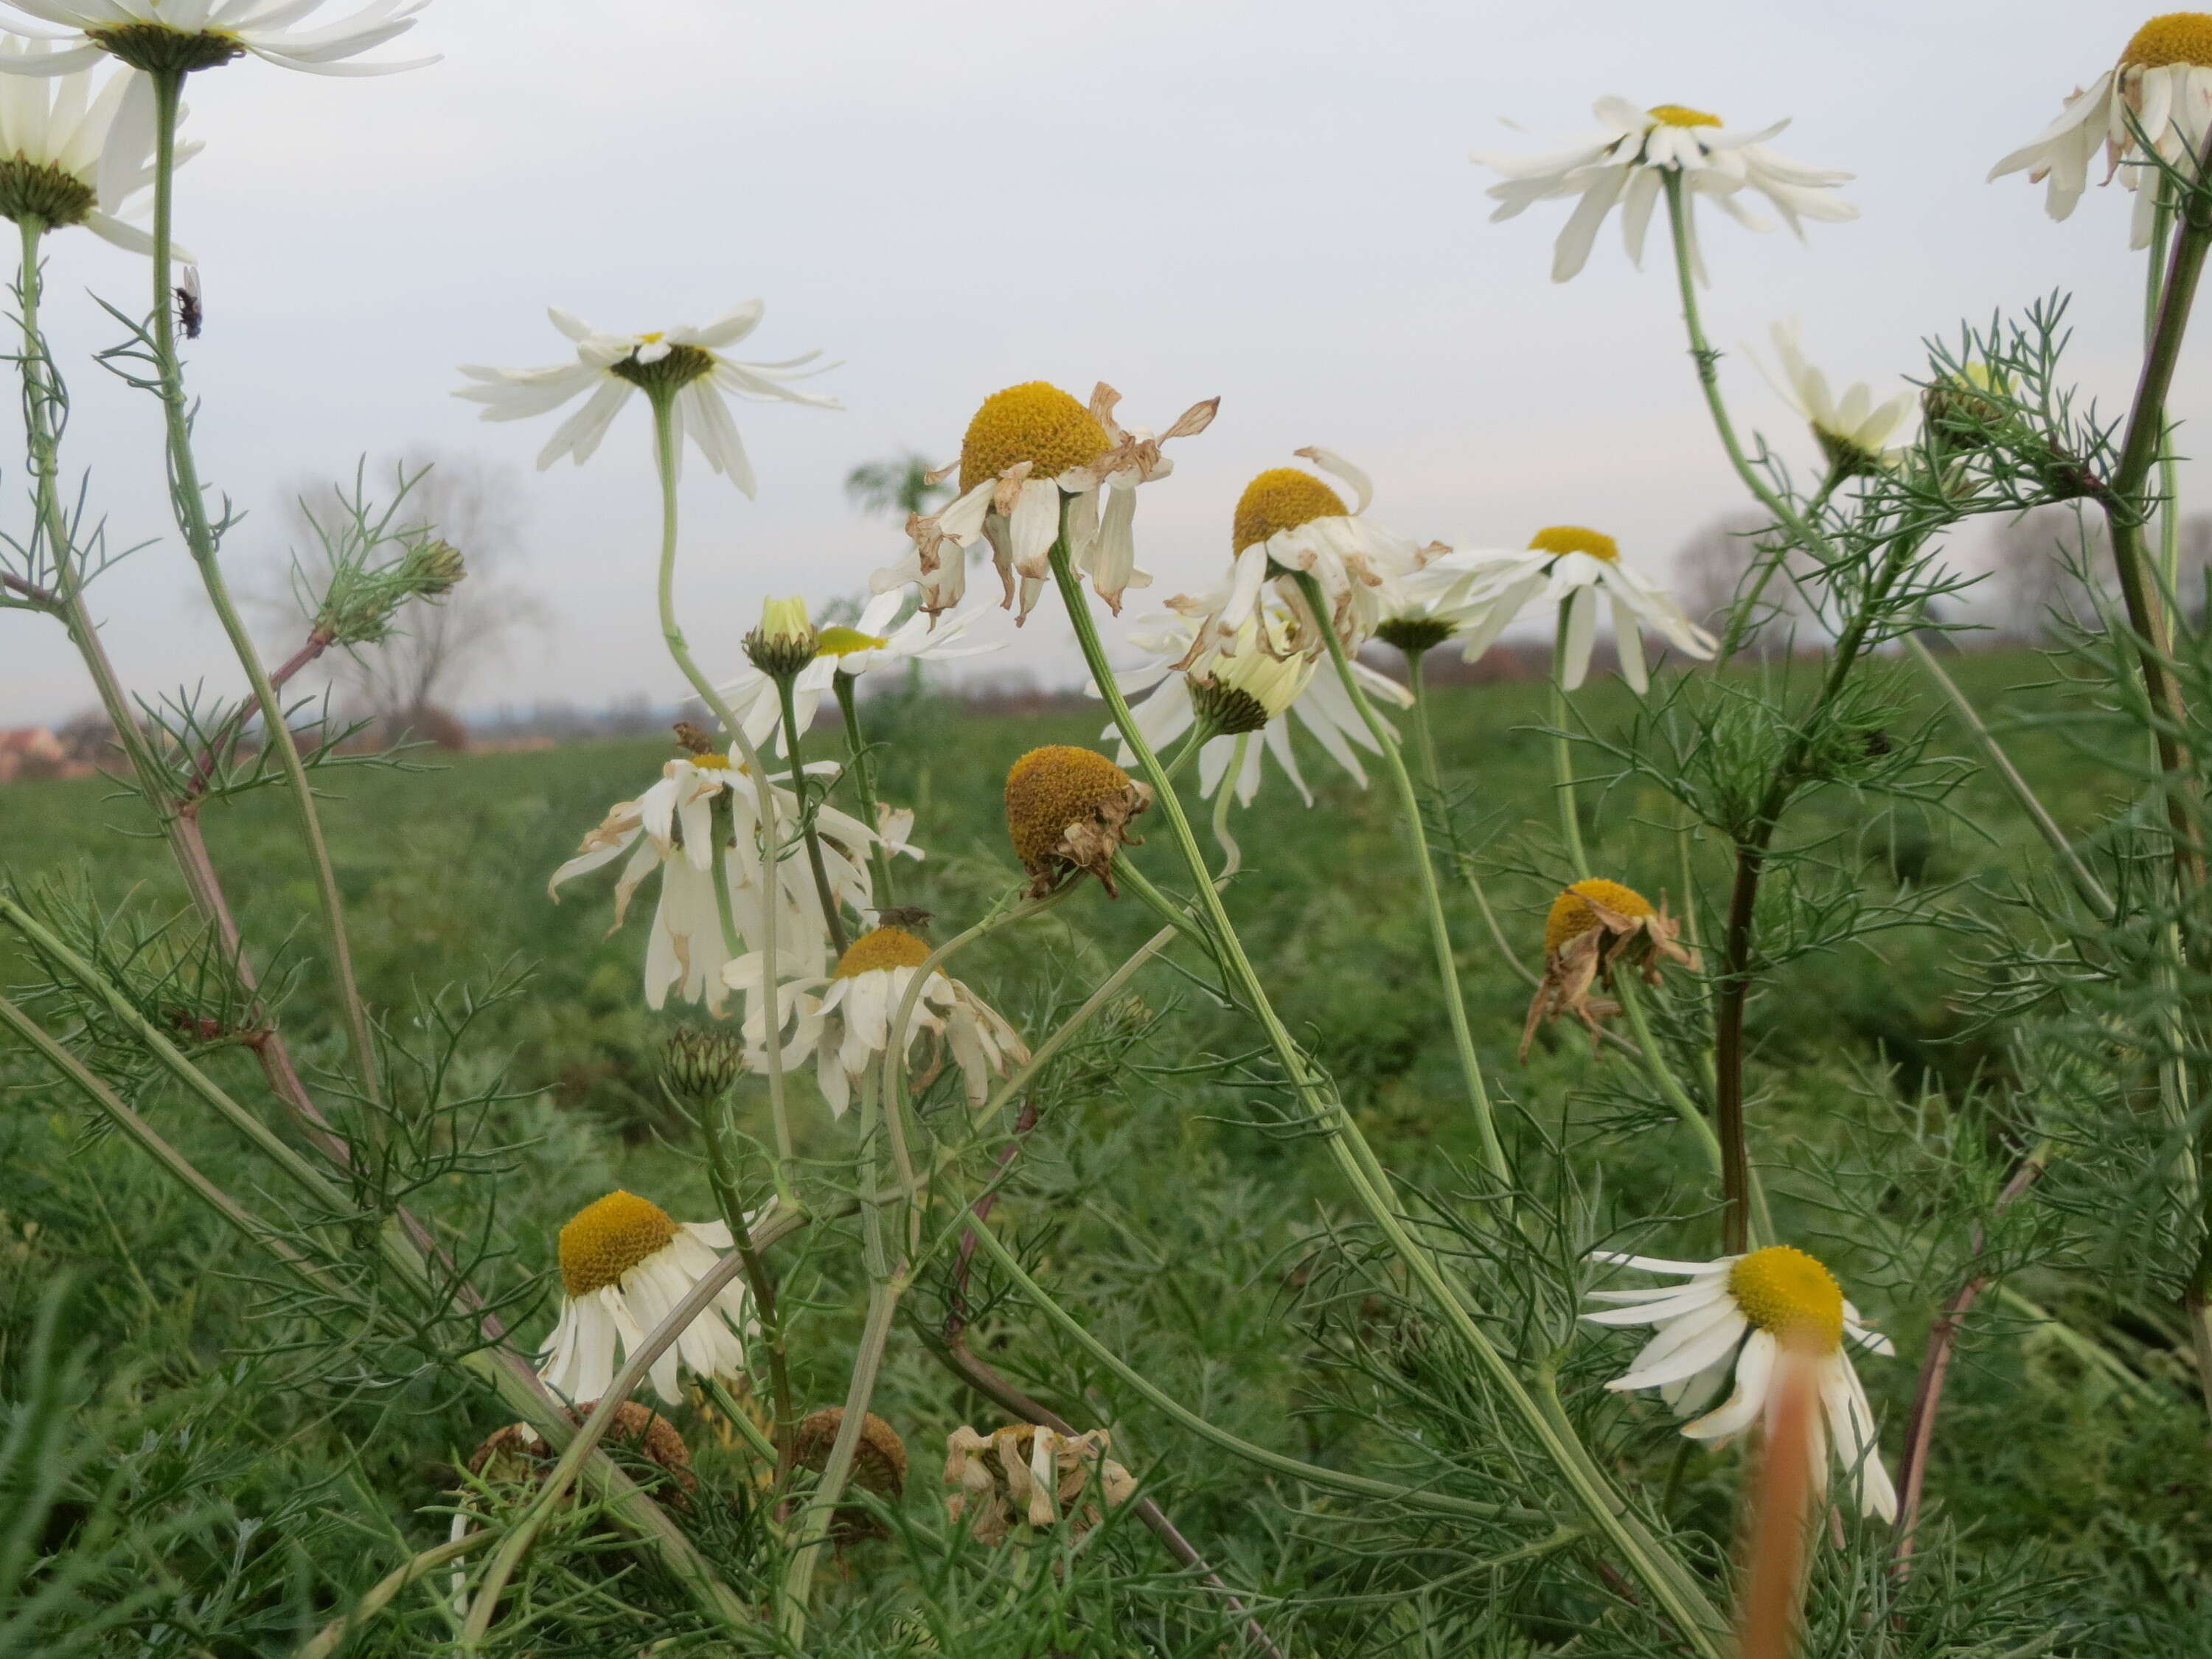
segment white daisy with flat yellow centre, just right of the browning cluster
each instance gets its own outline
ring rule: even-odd
[[[1719,650],[1719,641],[1690,622],[1672,593],[1621,562],[1621,549],[1610,535],[1579,524],[1537,531],[1526,553],[1467,549],[1442,555],[1429,568],[1440,577],[1455,575],[1455,597],[1482,608],[1482,622],[1464,641],[1467,661],[1475,661],[1498,644],[1498,635],[1540,593],[1546,604],[1566,606],[1566,646],[1557,664],[1566,690],[1582,686],[1590,672],[1599,595],[1613,611],[1613,646],[1621,657],[1621,679],[1637,692],[1650,688],[1639,628],[1655,628],[1688,657],[1703,659]]]

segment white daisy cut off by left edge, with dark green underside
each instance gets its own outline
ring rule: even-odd
[[[46,42],[0,40],[0,69],[44,60]],[[97,88],[97,91],[95,91]],[[0,215],[49,230],[84,226],[135,254],[153,234],[128,223],[153,188],[153,82],[135,69],[104,77],[80,69],[53,80],[0,77]],[[177,159],[199,153],[179,144]],[[177,250],[177,259],[190,254]]]

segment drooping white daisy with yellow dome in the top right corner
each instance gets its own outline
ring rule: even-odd
[[[2212,13],[2168,11],[2137,29],[2119,49],[2119,62],[2068,97],[2059,117],[2035,142],[1997,161],[1989,177],[2026,170],[2031,184],[2048,179],[2044,210],[2064,219],[2088,188],[2088,164],[2104,150],[2104,184],[2119,175],[2135,190],[2128,246],[2148,248],[2161,195],[2157,186],[2163,181],[2152,155],[2188,175],[2208,131]]]

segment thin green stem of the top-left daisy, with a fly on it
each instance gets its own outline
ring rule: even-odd
[[[168,440],[168,495],[177,515],[184,544],[199,566],[208,604],[223,624],[239,666],[254,692],[261,710],[261,741],[276,752],[283,768],[292,810],[299,818],[299,836],[307,849],[314,872],[314,889],[323,911],[323,940],[330,949],[330,969],[338,991],[338,1013],[345,1022],[345,1040],[354,1053],[356,1082],[372,1102],[380,1099],[383,1082],[376,1071],[376,1044],[369,1037],[369,1015],[361,1002],[361,984],[354,978],[354,947],[345,931],[345,902],[338,896],[338,872],[330,860],[323,841],[323,818],[314,805],[314,787],[307,783],[307,768],[292,741],[285,723],[283,699],[270,684],[261,666],[246,622],[230,597],[223,566],[217,555],[215,526],[208,522],[208,502],[199,482],[199,462],[192,456],[192,414],[184,398],[184,365],[177,358],[177,314],[175,279],[170,272],[170,221],[177,188],[177,111],[184,93],[184,71],[153,75],[155,95],[155,177],[153,177],[153,354],[155,380],[161,398],[161,422]]]

